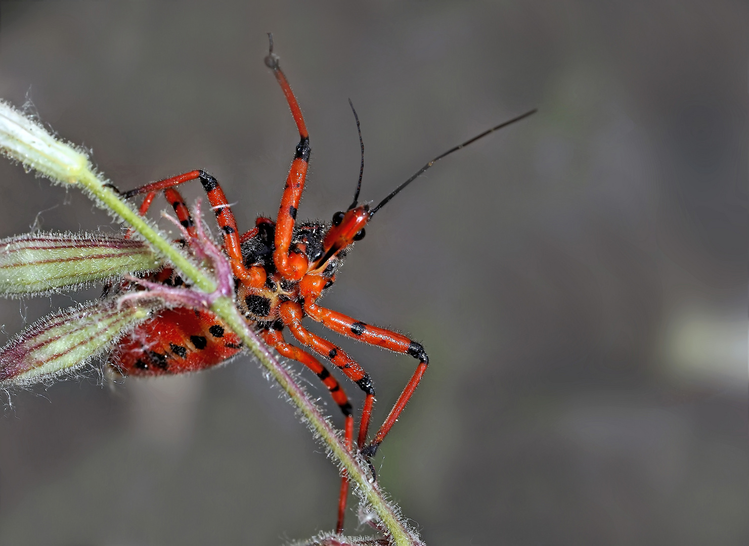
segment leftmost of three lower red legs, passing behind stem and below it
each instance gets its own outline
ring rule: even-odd
[[[283,339],[283,334],[279,330],[264,330],[261,336],[268,345],[276,348],[283,357],[296,360],[311,369],[322,382],[327,386],[330,391],[330,395],[333,397],[333,401],[338,404],[345,416],[344,434],[345,434],[345,445],[348,449],[351,449],[352,442],[354,440],[354,416],[351,415],[351,403],[348,401],[348,397],[339,385],[335,377],[330,375],[330,371],[324,367],[315,357],[306,351],[302,351],[294,345],[288,345]],[[348,500],[348,474],[343,471],[341,479],[341,492],[338,503],[338,522],[336,524],[336,533],[343,533],[343,521],[346,514],[346,501]]]

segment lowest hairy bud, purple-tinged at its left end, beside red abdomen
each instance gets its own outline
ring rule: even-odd
[[[118,309],[110,298],[48,315],[0,349],[0,385],[25,386],[72,374],[159,307],[154,300]]]

